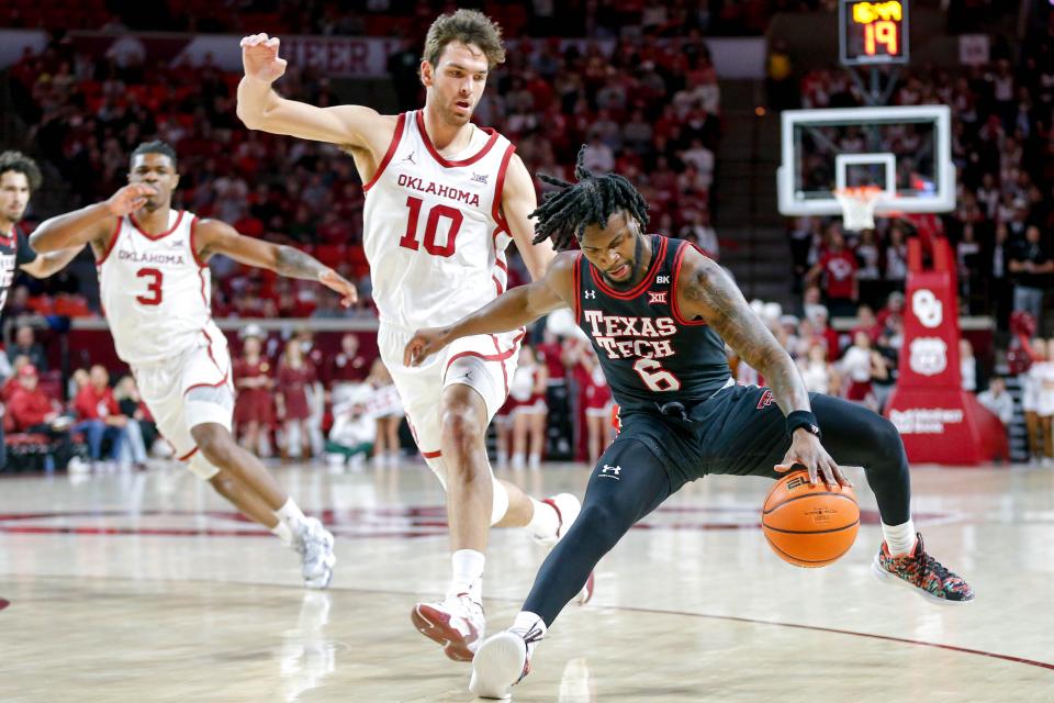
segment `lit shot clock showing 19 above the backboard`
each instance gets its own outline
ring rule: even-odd
[[[843,66],[908,63],[908,0],[840,0]]]

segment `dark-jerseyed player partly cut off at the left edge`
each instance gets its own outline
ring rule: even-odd
[[[33,191],[41,187],[41,169],[36,161],[20,152],[0,154],[0,311],[8,302],[15,269],[34,278],[47,278],[64,269],[83,247],[37,255],[19,228]],[[8,462],[0,423],[0,469]]]

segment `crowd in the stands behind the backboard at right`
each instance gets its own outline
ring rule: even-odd
[[[953,246],[964,313],[995,315],[1000,330],[1008,328],[1014,310],[1044,322],[1043,291],[1054,282],[1052,52],[1054,36],[1047,34],[1027,43],[1017,62],[997,55],[988,65],[957,72],[906,69],[892,104],[952,108],[957,208],[930,221],[879,219],[875,230],[864,232],[843,232],[819,217],[794,220],[796,278],[820,276],[832,313],[852,316],[856,304],[874,305],[902,288],[905,241],[927,228]],[[799,96],[804,108],[865,104],[842,69],[807,74]]]

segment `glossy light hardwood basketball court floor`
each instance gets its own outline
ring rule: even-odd
[[[408,617],[447,578],[427,469],[278,476],[337,535],[327,592],[303,590],[292,553],[178,469],[0,480],[0,701],[471,701],[469,667]],[[552,466],[518,480],[580,493],[585,478]],[[602,561],[594,602],[563,613],[513,700],[1054,701],[1054,471],[916,468],[913,481],[928,547],[975,603],[872,578],[866,488],[851,553],[805,570],[758,527],[769,482],[710,478]],[[517,531],[493,534],[491,632],[542,557]]]

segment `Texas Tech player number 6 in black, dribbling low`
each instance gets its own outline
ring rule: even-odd
[[[579,520],[542,563],[513,627],[476,652],[472,692],[506,698],[601,557],[707,473],[775,479],[800,465],[812,483],[849,486],[839,465],[862,466],[885,537],[876,576],[942,603],[973,600],[969,585],[930,557],[915,532],[908,460],[893,424],[863,406],[810,397],[721,268],[687,242],[643,234],[640,193],[621,176],[594,176],[581,158],[575,183],[542,177],[560,190],[531,215],[538,241],[551,237],[564,249],[574,237],[581,253],[561,253],[546,278],[449,327],[419,331],[405,350],[407,364],[419,361],[461,336],[515,330],[569,306],[621,409],[621,431],[593,469]],[[726,343],[767,388],[732,382]]]

